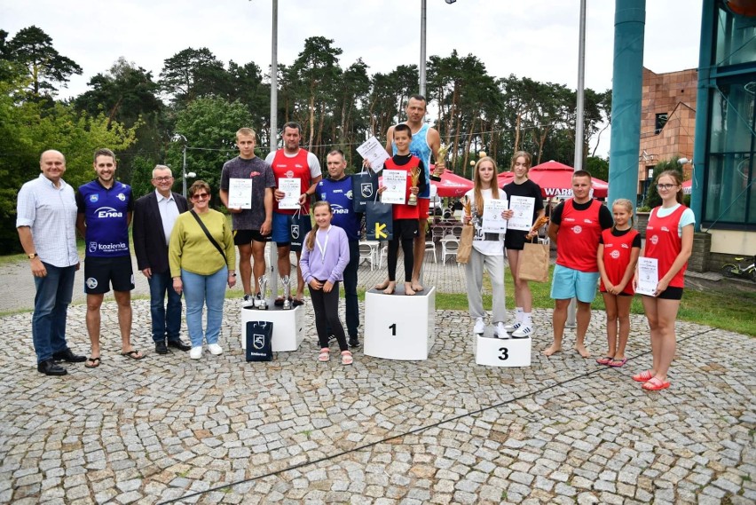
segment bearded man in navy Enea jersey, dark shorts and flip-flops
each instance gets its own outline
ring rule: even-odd
[[[79,186],[76,193],[76,229],[85,241],[84,292],[87,294],[87,332],[91,354],[85,367],[99,367],[100,306],[113,283],[121,329],[121,354],[142,359],[144,354],[131,346],[131,289],[134,272],[129,250],[129,225],[133,201],[131,187],[115,180],[115,154],[98,149],[94,155],[97,178]]]

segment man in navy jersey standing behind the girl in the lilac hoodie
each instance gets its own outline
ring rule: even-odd
[[[346,160],[339,149],[328,153],[326,158],[328,178],[318,183],[315,197],[319,201],[328,201],[334,218],[332,225],[343,228],[349,239],[349,264],[344,269],[344,298],[346,301],[346,321],[349,332],[350,347],[358,347],[357,328],[359,327],[359,304],[357,298],[357,269],[359,265],[359,231],[362,214],[352,207],[351,177],[344,173]]]

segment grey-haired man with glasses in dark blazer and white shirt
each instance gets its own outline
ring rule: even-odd
[[[132,236],[138,269],[150,283],[150,312],[153,320],[155,352],[168,353],[168,347],[189,351],[181,341],[181,295],[173,289],[168,266],[168,241],[176,218],[186,212],[186,199],[170,191],[173,174],[165,165],[153,170],[153,193],[134,202]],[[168,294],[168,304],[165,296]]]

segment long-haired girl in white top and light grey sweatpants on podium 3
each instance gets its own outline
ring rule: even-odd
[[[496,162],[489,156],[477,161],[475,186],[464,196],[464,223],[475,226],[473,247],[465,264],[470,317],[475,320],[473,333],[483,335],[483,271],[488,273],[492,291],[493,335],[508,338],[504,329],[507,308],[504,304],[504,233],[512,210],[507,209],[507,194],[496,185]],[[497,225],[500,223],[500,225]]]

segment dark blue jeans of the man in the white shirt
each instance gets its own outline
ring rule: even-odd
[[[66,351],[66,314],[74,295],[76,265],[44,264],[47,275],[35,277],[36,295],[32,316],[32,340],[36,362],[51,359],[53,352]]]

